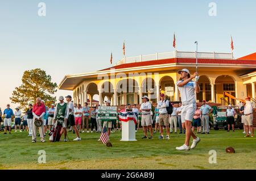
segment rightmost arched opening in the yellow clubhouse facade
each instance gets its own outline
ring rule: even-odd
[[[225,95],[225,92],[236,96],[236,87],[234,79],[229,75],[220,75],[215,80],[215,90],[216,90],[216,100],[217,103],[221,103],[222,105],[236,105],[236,101],[229,96]]]

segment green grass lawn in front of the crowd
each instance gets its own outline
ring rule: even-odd
[[[73,140],[75,134],[69,132]],[[256,138],[244,138],[242,131],[214,131],[200,134],[201,142],[190,151],[177,151],[184,134],[171,134],[170,140],[119,141],[121,132],[110,135],[112,148],[100,141],[100,133],[81,133],[82,141],[31,143],[27,132],[0,132],[0,169],[256,169]],[[38,139],[39,140],[39,139]],[[232,146],[235,154],[225,148]],[[46,151],[46,164],[38,163],[38,150]],[[217,163],[210,164],[209,150],[217,151]],[[107,167],[109,165],[109,167]]]

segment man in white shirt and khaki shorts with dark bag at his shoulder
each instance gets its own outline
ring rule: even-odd
[[[169,127],[169,116],[166,107],[169,106],[169,100],[164,100],[164,94],[160,95],[161,100],[158,102],[159,110],[159,125],[160,125],[160,140],[164,139],[163,126],[166,127],[166,140],[170,140],[170,127]]]

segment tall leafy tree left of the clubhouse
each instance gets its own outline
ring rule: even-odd
[[[22,85],[15,87],[12,103],[20,104],[25,110],[28,103],[35,103],[36,98],[42,98],[47,106],[56,101],[56,96],[51,96],[57,91],[57,83],[51,82],[51,75],[41,69],[26,70],[22,76]]]

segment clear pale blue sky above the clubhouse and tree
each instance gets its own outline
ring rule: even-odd
[[[39,2],[46,16],[39,16]],[[209,16],[209,3],[217,15]],[[57,84],[65,74],[96,71],[126,56],[177,50],[256,52],[256,1],[0,0],[0,107],[21,83],[24,70],[41,68]],[[58,91],[57,96],[71,94]],[[11,105],[14,108],[14,104]]]

